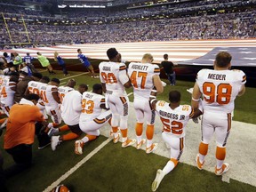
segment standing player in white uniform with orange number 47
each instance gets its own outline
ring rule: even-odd
[[[128,75],[132,82],[137,124],[136,124],[136,136],[137,145],[136,148],[140,149],[145,143],[145,139],[142,139],[143,122],[144,118],[147,121],[147,148],[146,153],[151,153],[157,148],[157,143],[153,143],[154,124],[155,124],[155,111],[150,107],[149,96],[150,92],[156,87],[156,92],[161,93],[164,91],[160,79],[160,68],[156,64],[152,64],[153,56],[151,54],[144,54],[141,63],[132,62],[129,64]]]

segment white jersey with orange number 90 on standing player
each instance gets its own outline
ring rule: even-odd
[[[126,74],[126,66],[124,63],[117,62],[101,62],[100,63],[100,81],[106,84],[108,92],[126,95],[124,85],[129,81]]]

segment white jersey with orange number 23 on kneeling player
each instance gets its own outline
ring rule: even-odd
[[[101,104],[105,104],[105,98],[94,92],[84,92],[82,97],[82,114],[80,122],[92,120],[100,116],[102,108]]]

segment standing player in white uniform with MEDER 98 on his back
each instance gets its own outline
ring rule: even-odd
[[[246,76],[241,70],[230,70],[232,56],[228,52],[219,52],[214,61],[214,69],[202,69],[197,73],[192,93],[192,107],[198,108],[203,96],[204,115],[202,119],[202,140],[196,156],[196,165],[203,169],[204,157],[213,133],[216,134],[215,174],[228,172],[229,164],[224,163],[226,144],[231,130],[231,113],[234,110],[236,96],[245,92]]]

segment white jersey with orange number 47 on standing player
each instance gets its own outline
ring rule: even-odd
[[[153,76],[159,75],[160,68],[156,64],[131,62],[128,76],[132,82],[134,98],[149,100],[154,87]]]

